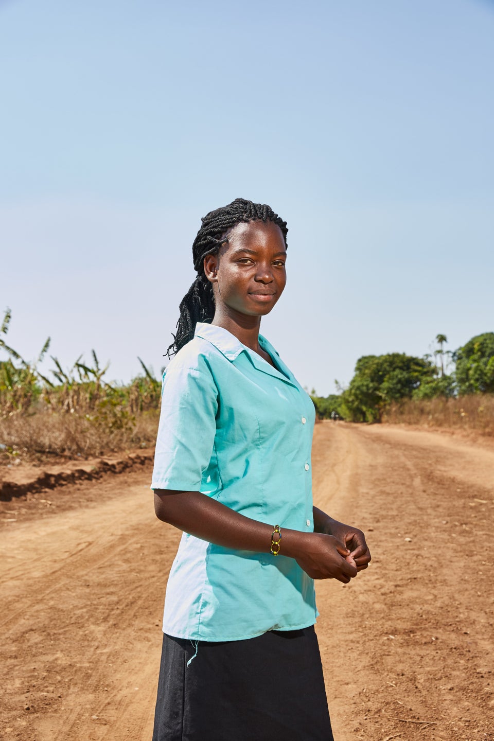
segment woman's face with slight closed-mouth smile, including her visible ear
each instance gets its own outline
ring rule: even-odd
[[[227,239],[217,255],[204,258],[216,312],[270,313],[287,282],[287,250],[280,227],[260,220],[241,223],[227,233]]]

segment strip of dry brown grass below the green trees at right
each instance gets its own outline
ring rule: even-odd
[[[409,399],[390,407],[383,422],[461,429],[494,436],[494,395],[475,393],[453,399]]]

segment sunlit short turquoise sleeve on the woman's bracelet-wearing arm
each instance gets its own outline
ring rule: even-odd
[[[218,390],[209,368],[167,368],[152,489],[200,490],[213,454],[217,410]]]

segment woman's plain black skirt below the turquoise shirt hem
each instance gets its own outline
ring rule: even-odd
[[[313,625],[242,641],[163,637],[153,741],[333,741]]]

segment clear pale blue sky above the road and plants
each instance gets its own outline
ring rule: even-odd
[[[494,330],[493,80],[487,0],[0,0],[7,341],[159,373],[238,196],[288,222],[261,331],[308,388]]]

